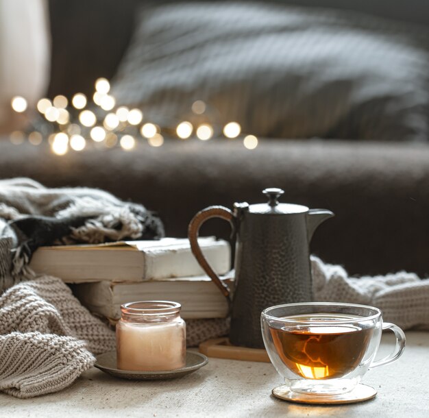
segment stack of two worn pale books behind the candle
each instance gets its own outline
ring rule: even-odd
[[[204,237],[199,246],[219,275],[230,271],[227,241]],[[179,302],[184,319],[228,315],[225,297],[199,267],[186,238],[40,247],[29,267],[72,284],[84,306],[112,322],[121,317],[122,304],[140,300]]]

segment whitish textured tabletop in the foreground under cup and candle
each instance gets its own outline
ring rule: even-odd
[[[64,391],[32,399],[0,393],[0,417],[429,417],[429,332],[406,332],[402,357],[369,371],[375,399],[347,406],[305,406],[276,399],[282,384],[269,363],[210,358],[177,380],[136,382],[90,369]],[[384,336],[380,355],[393,349]]]

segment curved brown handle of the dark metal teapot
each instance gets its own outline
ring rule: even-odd
[[[188,238],[191,243],[191,250],[197,259],[198,264],[201,268],[207,273],[208,277],[215,282],[216,286],[222,292],[223,296],[228,299],[228,302],[231,302],[231,290],[227,284],[219,279],[219,276],[215,273],[212,267],[208,264],[204,254],[201,251],[201,248],[198,245],[198,234],[199,228],[201,225],[211,218],[221,218],[225,221],[230,222],[232,229],[235,229],[234,226],[234,214],[228,208],[223,206],[209,206],[206,209],[200,210],[195,217],[191,220],[188,226]]]

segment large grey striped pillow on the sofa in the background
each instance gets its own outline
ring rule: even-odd
[[[157,3],[113,93],[162,125],[195,119],[201,99],[210,121],[258,136],[426,141],[428,45],[425,27],[346,10]]]

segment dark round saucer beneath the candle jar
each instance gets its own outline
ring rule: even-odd
[[[186,365],[180,369],[166,371],[134,371],[117,369],[117,352],[107,352],[97,356],[95,367],[109,373],[112,376],[132,380],[160,380],[180,378],[188,373],[198,370],[208,363],[208,358],[204,354],[186,350]]]

